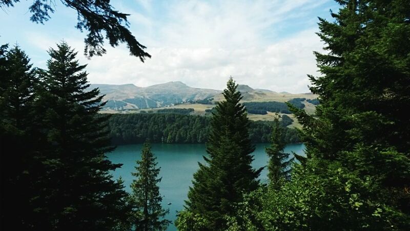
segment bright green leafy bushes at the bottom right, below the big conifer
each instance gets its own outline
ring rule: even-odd
[[[227,219],[228,230],[406,230],[410,217],[369,194],[374,186],[338,161],[312,158],[295,166],[280,189],[247,196]]]

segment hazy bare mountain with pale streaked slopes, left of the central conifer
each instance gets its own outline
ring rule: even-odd
[[[189,87],[182,82],[169,82],[149,87],[133,84],[110,85],[91,84],[90,88],[100,89],[107,101],[105,109],[141,109],[165,107],[188,101],[204,100],[221,93],[220,90]]]

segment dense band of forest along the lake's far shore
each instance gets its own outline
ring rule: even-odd
[[[168,111],[168,109],[163,109]],[[113,114],[110,116],[108,128],[113,145],[144,143],[149,139],[152,143],[206,143],[210,131],[210,117],[184,115],[178,112],[188,109],[172,109],[174,113],[132,113]],[[106,115],[101,115],[106,116]],[[298,132],[286,128],[293,120],[282,115],[280,122],[284,127],[286,143],[298,143]],[[269,143],[272,123],[250,122],[249,136],[253,143]]]

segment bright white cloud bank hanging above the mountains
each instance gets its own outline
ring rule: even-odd
[[[150,1],[139,1],[150,12]],[[322,1],[326,2],[326,1]],[[308,92],[306,74],[316,73],[313,51],[322,43],[316,27],[283,38],[275,35],[280,24],[321,7],[313,0],[218,3],[188,1],[169,5],[167,15],[132,13],[135,34],[148,41],[151,59],[141,63],[125,46],[107,47],[107,54],[87,60],[81,37],[66,38],[88,63],[92,83],[137,86],[182,81],[189,86],[222,89],[232,75],[239,84],[274,91]],[[131,28],[131,29],[132,29]],[[135,32],[134,32],[135,33]],[[267,35],[269,34],[269,36]],[[81,34],[84,36],[84,34]],[[32,36],[32,44],[42,47],[48,38]],[[47,43],[49,44],[49,43]]]

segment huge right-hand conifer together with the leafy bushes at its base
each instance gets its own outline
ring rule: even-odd
[[[335,21],[319,18],[316,115],[288,104],[308,158],[281,188],[248,195],[229,230],[410,227],[410,5],[337,2]]]

